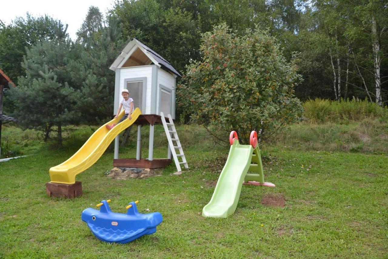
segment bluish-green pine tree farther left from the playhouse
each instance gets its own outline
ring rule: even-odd
[[[66,28],[56,24],[54,40],[38,42],[27,50],[22,67],[26,76],[19,77],[18,87],[9,90],[16,103],[16,116],[24,128],[57,131],[62,146],[62,127],[78,124],[81,113],[77,110],[81,100],[80,87],[71,77],[72,60],[77,55]]]

